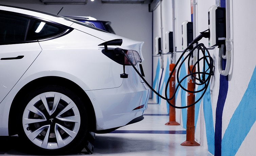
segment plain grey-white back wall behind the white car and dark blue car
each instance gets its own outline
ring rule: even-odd
[[[1,0],[0,4],[26,7],[59,15],[91,16],[97,20],[111,21],[111,26],[117,35],[144,41],[142,62],[145,79],[152,83],[152,12],[148,4],[106,4],[99,0],[88,0],[83,4],[45,5],[39,0]]]

